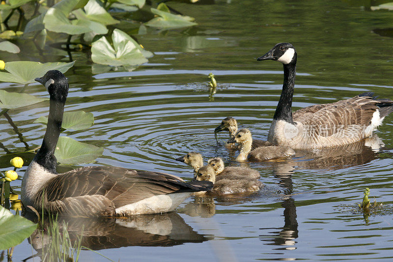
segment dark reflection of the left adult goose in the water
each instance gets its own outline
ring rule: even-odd
[[[36,215],[30,212],[25,217],[32,221],[37,220]],[[72,243],[77,241],[79,236],[81,245],[92,250],[125,246],[174,246],[212,239],[211,236],[195,232],[175,212],[131,217],[59,217],[57,223],[60,232],[63,222],[67,224]],[[37,229],[29,237],[30,244],[38,254],[51,241],[48,231],[45,230],[50,225],[49,219],[46,218],[42,225],[44,230]]]

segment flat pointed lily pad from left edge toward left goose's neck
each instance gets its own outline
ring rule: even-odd
[[[0,108],[14,109],[33,105],[48,98],[35,97],[26,93],[7,92],[0,89]]]

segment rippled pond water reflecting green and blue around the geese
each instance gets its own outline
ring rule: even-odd
[[[174,158],[198,151],[205,159],[221,156],[227,165],[237,166],[235,154],[217,145],[213,130],[223,118],[233,116],[255,138],[267,138],[281,94],[282,65],[256,58],[278,42],[292,43],[298,53],[294,110],[365,91],[393,98],[393,41],[374,32],[393,26],[393,12],[368,11],[357,2],[168,2],[195,17],[198,26],[137,35],[154,57],[134,71],[92,73],[86,56],[73,54],[77,62],[66,74],[70,92],[65,110],[92,112],[95,123],[63,135],[104,147],[93,165],[156,170],[190,179],[192,170]],[[207,87],[210,72],[218,82],[214,95]],[[13,91],[20,86],[1,88]],[[41,85],[30,86],[28,93],[48,96]],[[45,127],[32,122],[47,114],[47,103],[9,112],[24,143],[1,117],[0,143],[6,149],[0,154],[40,145]],[[250,163],[265,185],[257,194],[190,197],[172,214],[69,223],[75,232],[85,225],[83,244],[113,261],[391,261],[392,128],[393,114],[375,132],[379,138],[366,142],[379,145],[379,150],[362,142],[297,151],[286,161]],[[225,143],[227,134],[219,139]],[[33,157],[22,156],[27,161]],[[2,161],[1,168],[6,167]],[[20,181],[15,184],[20,186]],[[370,216],[357,208],[366,187],[370,196],[384,203]],[[25,240],[15,248],[13,261],[35,254],[36,248]],[[81,259],[108,261],[91,251],[83,251]]]

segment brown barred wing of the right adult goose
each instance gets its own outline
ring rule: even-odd
[[[309,134],[324,137],[332,136],[349,126],[362,131],[371,123],[380,103],[371,96],[361,94],[331,104],[299,109],[293,113],[293,120],[305,125]]]

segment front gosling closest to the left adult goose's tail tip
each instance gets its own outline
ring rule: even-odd
[[[214,186],[213,189],[206,192],[196,192],[195,195],[230,195],[241,193],[253,193],[258,191],[263,184],[255,178],[239,176],[239,175],[217,175],[212,166],[204,166],[198,170],[197,176],[194,180],[211,181]]]

